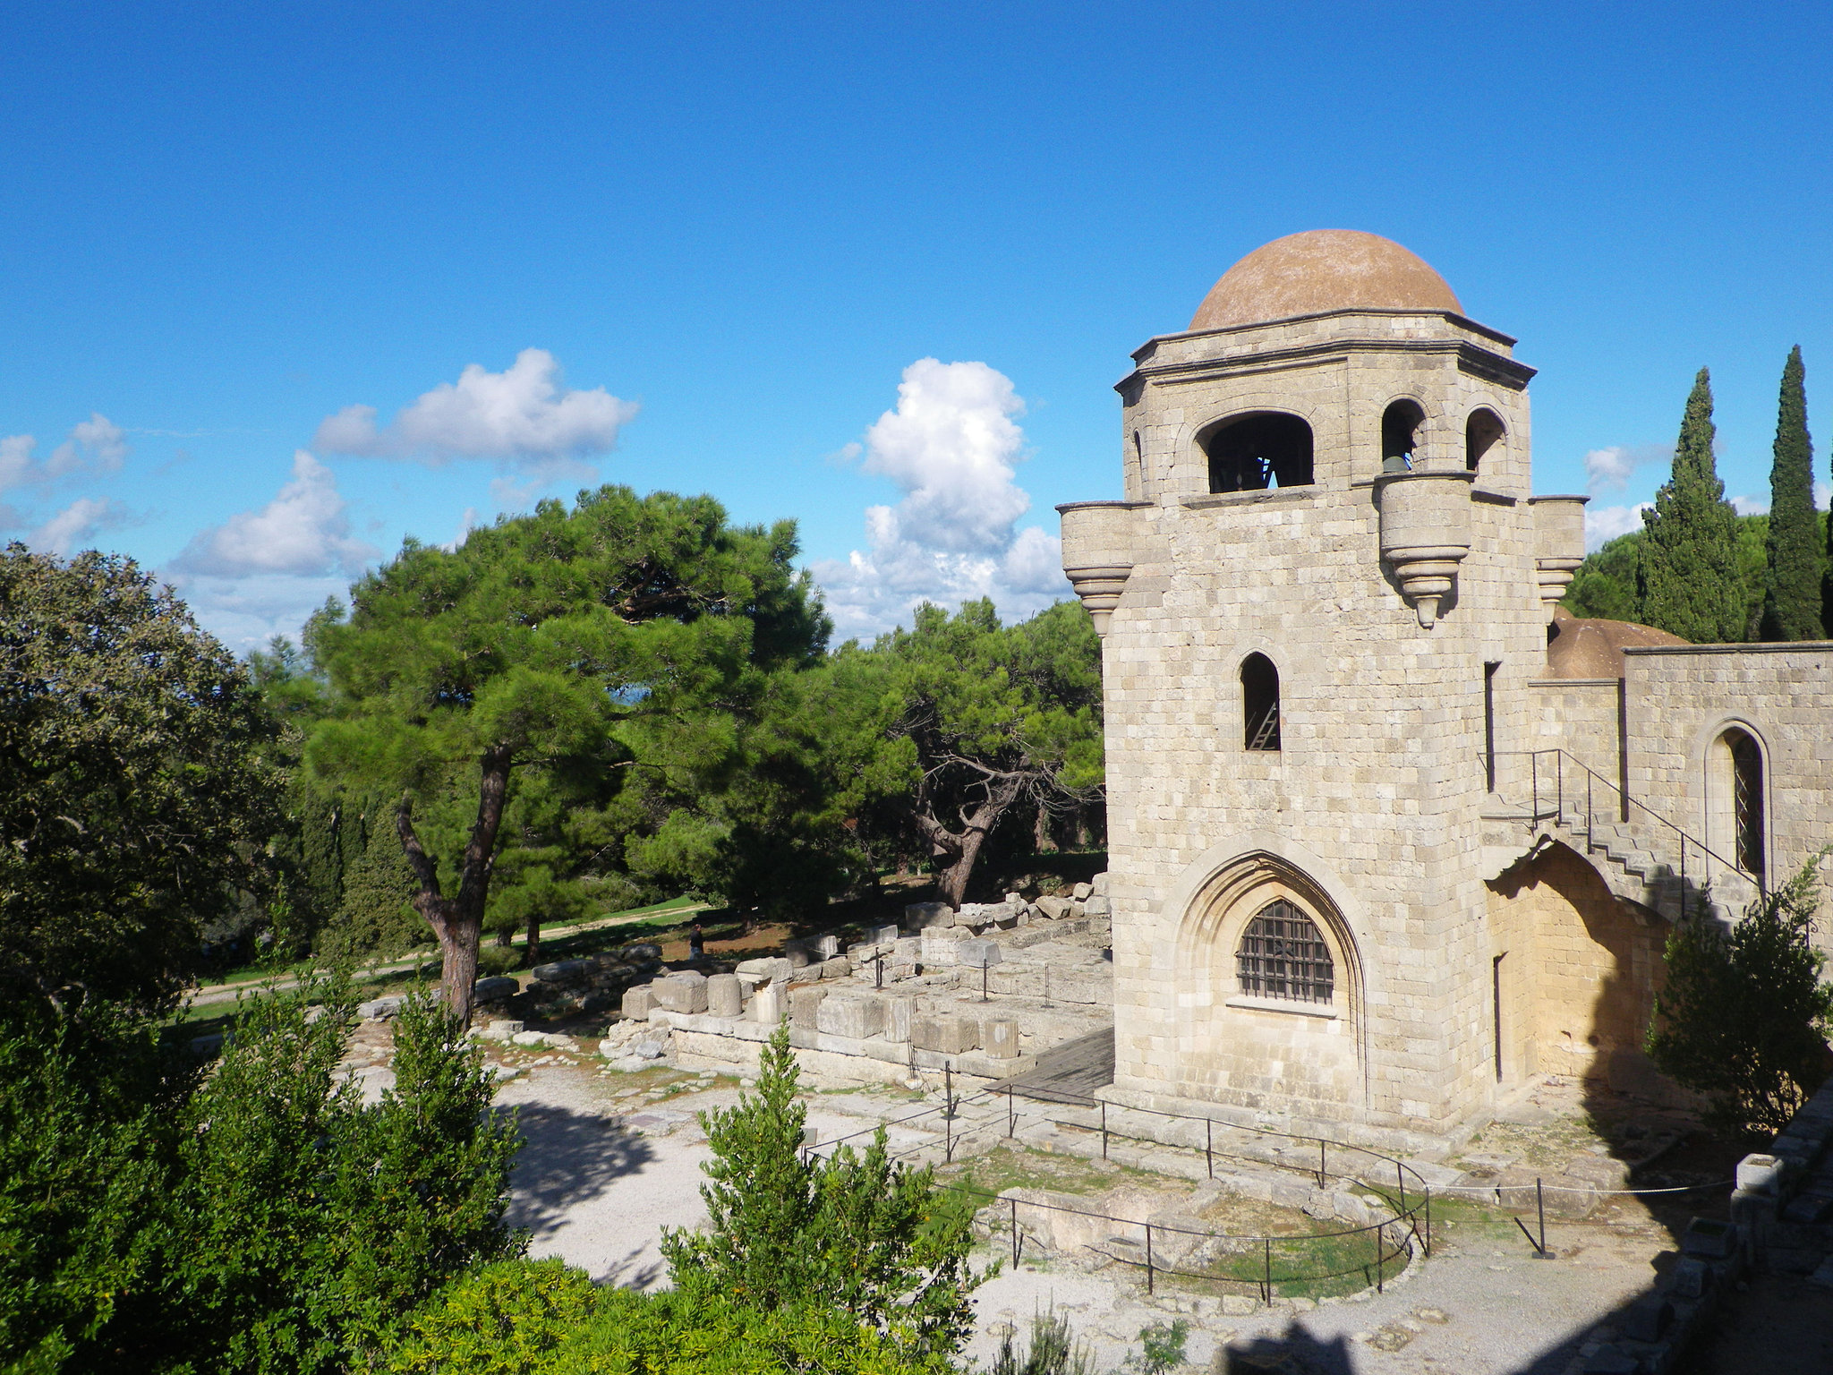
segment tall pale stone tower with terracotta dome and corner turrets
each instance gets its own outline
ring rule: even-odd
[[[1103,640],[1114,1096],[1340,1135],[1492,1102],[1481,816],[1584,556],[1514,341],[1399,244],[1237,262],[1063,513]]]

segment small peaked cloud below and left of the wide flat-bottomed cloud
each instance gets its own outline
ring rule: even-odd
[[[238,512],[198,532],[172,563],[178,576],[244,578],[356,574],[379,554],[350,535],[337,478],[304,449],[293,455],[293,480],[258,512]]]

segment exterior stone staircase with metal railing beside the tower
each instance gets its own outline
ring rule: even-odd
[[[1571,777],[1582,777],[1584,764],[1567,757],[1565,768],[1573,770]],[[1490,794],[1483,814],[1485,873],[1499,876],[1558,842],[1589,858],[1611,893],[1670,922],[1699,904],[1718,920],[1734,922],[1762,896],[1749,874],[1710,854],[1696,836],[1641,805],[1624,808],[1617,786],[1597,774],[1591,783],[1591,790],[1582,792],[1565,781],[1549,790],[1551,796],[1525,805]]]

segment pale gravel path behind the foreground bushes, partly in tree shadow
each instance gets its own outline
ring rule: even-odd
[[[656,1248],[662,1228],[706,1217],[698,1186],[708,1148],[693,1113],[730,1106],[739,1093],[730,1078],[693,1080],[695,1087],[654,1098],[649,1085],[678,1078],[555,1063],[502,1087],[499,1104],[521,1107],[528,1135],[511,1219],[530,1228],[532,1254],[559,1256],[607,1283],[653,1289],[667,1282]],[[643,1091],[629,1093],[632,1085]],[[909,1106],[895,1094],[810,1094],[810,1124],[823,1140],[898,1111]],[[1190,1318],[1188,1355],[1208,1368],[1224,1342],[1276,1336],[1296,1362],[1292,1370],[1553,1375],[1586,1333],[1648,1287],[1653,1260],[1672,1241],[1653,1221],[1624,1217],[1551,1226],[1549,1245],[1554,1260],[1534,1260],[1527,1243],[1501,1226],[1461,1223],[1441,1232],[1432,1261],[1380,1296],[1239,1318],[1224,1318],[1213,1300],[1204,1302]],[[1065,1263],[1001,1274],[977,1302],[981,1333],[968,1355],[982,1364],[992,1360],[1004,1324],[1026,1331],[1032,1313],[1052,1304],[1070,1314],[1103,1370],[1138,1349],[1140,1327],[1179,1316],[1169,1304],[1147,1304],[1131,1274]]]

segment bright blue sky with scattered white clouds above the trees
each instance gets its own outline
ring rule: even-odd
[[[1023,612],[1129,350],[1311,227],[1520,337],[1540,491],[1633,521],[1708,365],[1762,502],[1795,343],[1833,438],[1829,15],[7,6],[0,534],[246,649],[616,480],[799,519],[843,631]]]

